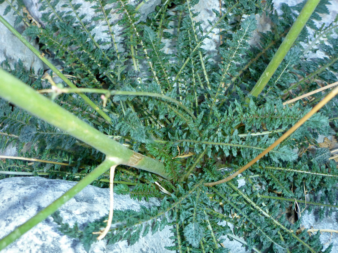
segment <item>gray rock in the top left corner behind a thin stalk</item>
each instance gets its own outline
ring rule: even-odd
[[[3,16],[4,10],[8,4],[3,2],[0,4],[0,14]],[[17,6],[17,2],[13,2],[14,6]],[[22,10],[20,11],[22,14]],[[12,26],[16,17],[14,16],[14,10],[11,9],[6,16],[3,18]],[[18,24],[15,29],[22,33],[25,29],[25,25],[21,22]],[[29,40],[29,38],[26,37]],[[31,41],[31,44],[35,48],[39,48],[35,40]],[[6,59],[9,61],[11,68],[14,68],[14,65],[20,59],[23,62],[23,65],[26,69],[34,68],[34,71],[37,72],[39,69],[43,69],[42,61],[35,56],[13,33],[11,33],[3,24],[0,23],[0,63]]]

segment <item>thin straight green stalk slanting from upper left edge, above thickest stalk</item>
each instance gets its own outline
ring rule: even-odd
[[[69,87],[71,88],[77,88],[69,79],[62,74],[49,60],[47,60],[41,52],[39,52],[36,48],[34,48],[28,41],[25,39],[24,36],[22,36],[17,30],[14,29],[13,26],[11,26],[1,15],[0,15],[0,22],[9,30],[11,31],[20,41],[29,48],[30,51],[32,51],[40,60],[42,60],[43,63],[45,63],[56,75],[58,75]],[[112,123],[111,118],[105,114],[93,101],[89,99],[86,95],[80,93],[79,96],[89,105],[91,106],[95,111],[97,111],[98,114],[101,115],[102,118],[104,118],[108,123]]]

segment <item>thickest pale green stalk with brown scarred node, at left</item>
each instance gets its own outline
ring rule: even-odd
[[[0,69],[0,96],[104,153],[116,164],[124,164],[171,179],[163,163],[136,153],[77,118]]]

